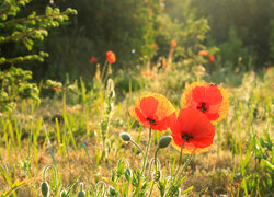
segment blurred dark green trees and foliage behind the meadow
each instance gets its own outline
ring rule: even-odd
[[[65,80],[82,76],[89,81],[95,65],[105,61],[105,53],[116,54],[114,72],[133,72],[137,65],[157,62],[167,56],[170,40],[176,40],[174,59],[192,58],[201,49],[210,49],[215,70],[239,73],[260,71],[274,61],[273,0],[33,0],[18,18],[35,11],[44,14],[46,7],[72,8],[77,15],[58,28],[49,28],[45,40],[34,40],[32,49],[21,42],[1,45],[1,57],[16,57],[39,50],[49,54],[44,62],[23,62],[16,67],[32,70],[35,80]],[[1,34],[7,31],[1,30]],[[1,69],[11,67],[0,65]]]

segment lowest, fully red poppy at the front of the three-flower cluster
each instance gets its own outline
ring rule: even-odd
[[[209,119],[201,112],[193,108],[180,111],[175,125],[171,127],[173,142],[172,146],[185,153],[199,153],[207,151],[213,144],[215,135],[214,126]]]

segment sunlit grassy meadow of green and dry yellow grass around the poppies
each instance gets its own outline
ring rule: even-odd
[[[134,192],[136,185],[130,178],[127,181],[125,170],[140,169],[141,154],[134,144],[124,142],[119,134],[129,134],[145,150],[149,129],[129,115],[129,107],[141,95],[160,93],[180,108],[183,89],[207,74],[178,62],[153,73],[151,78],[139,74],[145,86],[135,91],[132,81],[129,90],[122,91],[113,81],[104,86],[101,78],[94,78],[96,89],[89,91],[81,79],[62,88],[44,88],[48,96],[39,103],[26,100],[18,103],[12,114],[2,113],[1,195],[41,196],[39,187],[45,181],[52,196],[70,186],[76,195],[80,183],[88,196],[93,193],[104,196],[110,188],[123,196]],[[209,150],[194,153],[185,166],[182,194],[185,189],[191,196],[273,194],[273,74],[271,69],[262,77],[246,73],[238,88],[220,84],[229,94],[229,113],[215,125]],[[152,132],[148,161],[153,158],[159,139],[170,134],[169,129],[165,134]],[[180,151],[169,146],[158,158],[163,181],[179,165]],[[189,154],[183,154],[183,163],[187,158]],[[54,165],[57,172],[47,171],[44,179],[43,169],[48,165]],[[115,173],[116,179],[112,177]],[[151,186],[152,179],[148,177],[146,184]],[[16,192],[11,193],[13,189]],[[157,187],[152,196],[160,196]]]

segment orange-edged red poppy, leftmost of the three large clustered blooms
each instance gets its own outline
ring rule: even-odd
[[[167,97],[161,94],[141,96],[129,114],[145,127],[153,130],[167,130],[175,118],[175,108]]]

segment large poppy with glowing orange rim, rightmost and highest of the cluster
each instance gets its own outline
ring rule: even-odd
[[[222,119],[229,108],[227,92],[213,83],[194,82],[187,86],[181,97],[183,108],[192,107],[206,114],[209,120]]]

